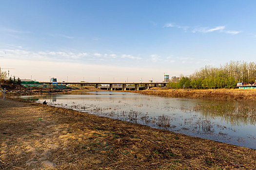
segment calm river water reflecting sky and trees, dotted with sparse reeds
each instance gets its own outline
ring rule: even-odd
[[[256,149],[256,102],[164,98],[111,91],[21,96],[98,116]]]

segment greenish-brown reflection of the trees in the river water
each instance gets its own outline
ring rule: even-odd
[[[181,108],[186,109],[186,108]],[[196,106],[187,108],[189,111],[200,113],[205,118],[220,117],[232,125],[255,125],[256,105],[255,102],[216,102],[197,103]]]

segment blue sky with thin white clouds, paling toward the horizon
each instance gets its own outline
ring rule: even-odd
[[[0,67],[37,81],[162,82],[256,61],[255,0],[0,0]],[[4,69],[7,71],[8,69]]]

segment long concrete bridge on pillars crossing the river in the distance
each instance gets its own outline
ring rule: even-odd
[[[50,84],[50,85],[81,85],[81,86],[95,86],[100,89],[107,90],[140,90],[140,89],[149,89],[150,87],[166,86],[166,82],[155,82],[155,83],[106,83],[106,82],[39,82],[41,84]],[[108,85],[108,86],[99,86],[99,85]]]

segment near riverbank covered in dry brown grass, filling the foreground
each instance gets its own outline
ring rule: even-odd
[[[18,100],[0,100],[0,169],[256,169],[256,150]]]

